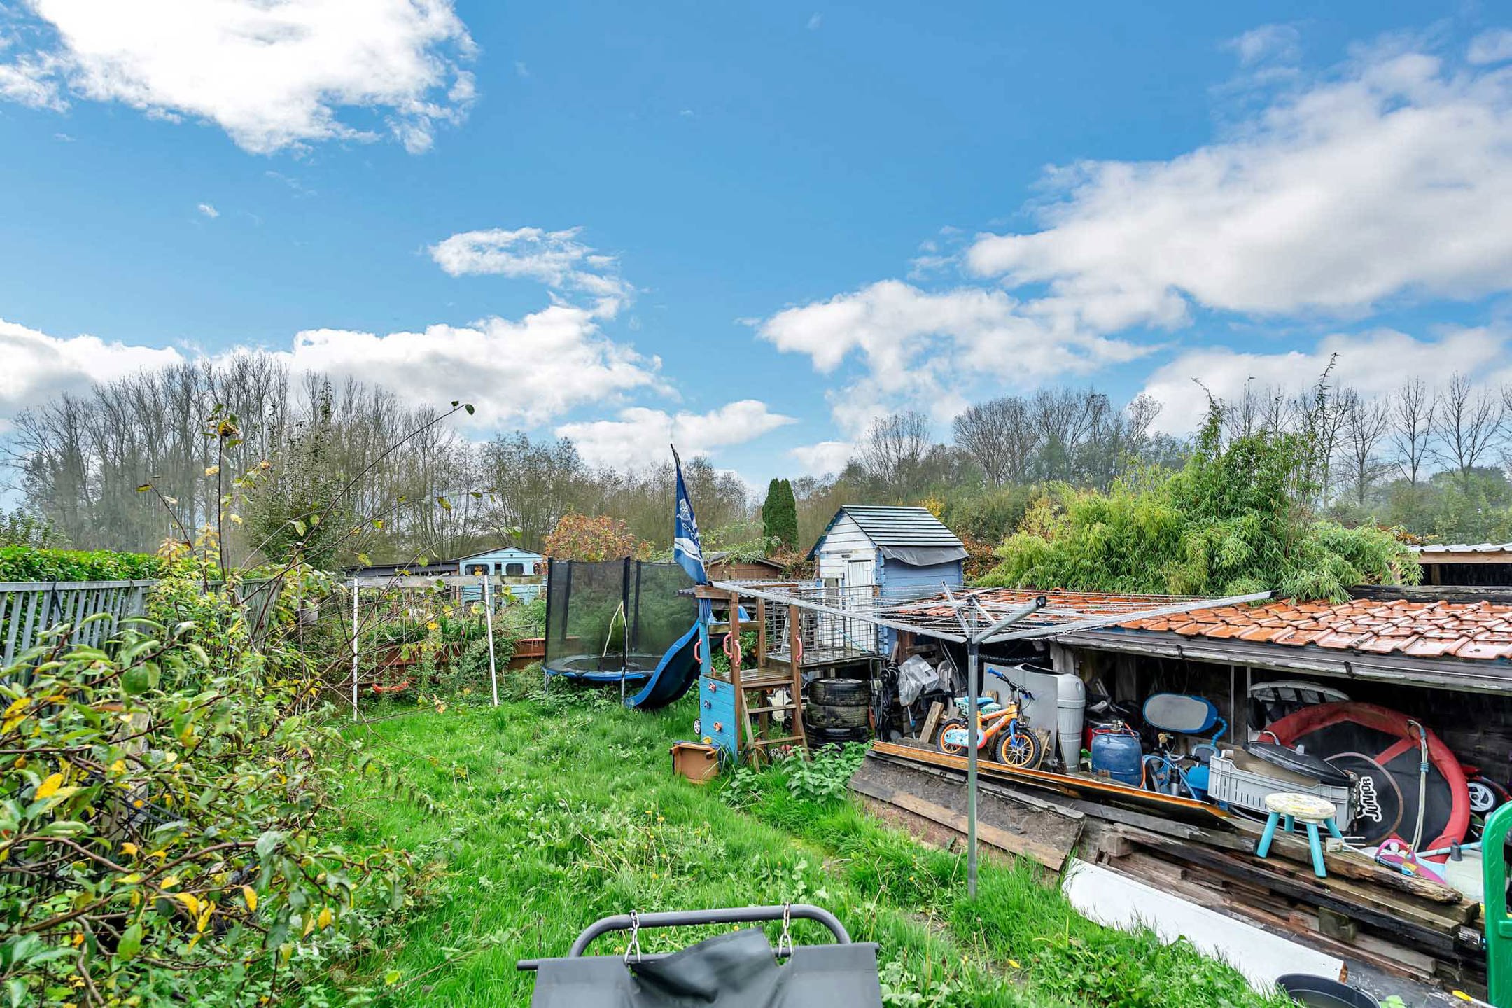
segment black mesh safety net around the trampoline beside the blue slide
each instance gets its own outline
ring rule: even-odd
[[[677,564],[550,561],[546,668],[562,674],[650,673],[699,618]]]

